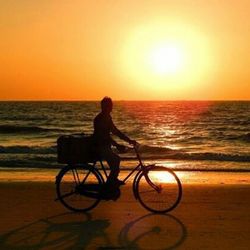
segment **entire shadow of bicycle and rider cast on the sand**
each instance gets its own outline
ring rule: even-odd
[[[111,242],[106,219],[63,213],[40,219],[0,235],[0,249],[175,249],[187,235],[173,215],[147,214],[126,224]]]

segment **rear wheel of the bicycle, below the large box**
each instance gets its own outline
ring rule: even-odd
[[[102,179],[89,165],[66,166],[56,178],[57,197],[68,209],[86,212],[100,202]]]

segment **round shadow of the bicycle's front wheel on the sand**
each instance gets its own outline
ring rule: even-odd
[[[118,241],[124,249],[168,250],[182,245],[187,237],[185,225],[170,214],[147,214],[129,222]]]

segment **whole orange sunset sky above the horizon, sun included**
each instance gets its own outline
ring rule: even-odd
[[[0,0],[0,100],[250,100],[250,2]]]

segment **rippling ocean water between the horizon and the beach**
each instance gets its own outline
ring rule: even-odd
[[[57,138],[92,134],[99,110],[95,101],[0,102],[0,167],[62,167]],[[116,101],[112,117],[148,163],[250,171],[250,101]],[[134,166],[132,151],[123,157],[121,168]]]

